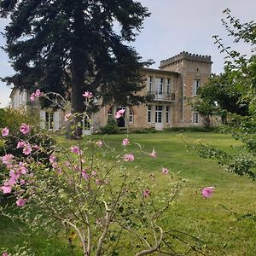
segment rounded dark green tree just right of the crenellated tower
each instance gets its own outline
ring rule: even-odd
[[[208,83],[199,88],[198,96],[190,99],[192,108],[205,117],[206,126],[210,126],[210,117],[214,115],[225,124],[228,113],[248,114],[248,104],[241,100],[241,91],[233,76],[227,68],[224,73],[212,74]]]

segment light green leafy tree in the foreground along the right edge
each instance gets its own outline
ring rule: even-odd
[[[230,36],[235,37],[234,42],[243,41],[252,47],[251,55],[241,53],[230,47],[225,47],[221,38],[215,36],[216,44],[221,52],[227,55],[225,73],[232,75],[232,88],[236,88],[238,102],[247,102],[248,112],[245,115],[233,115],[236,125],[224,127],[232,136],[241,142],[236,153],[231,154],[218,148],[199,143],[193,145],[200,155],[205,158],[217,159],[218,163],[226,166],[226,170],[238,175],[247,175],[256,179],[256,23],[254,21],[241,23],[239,19],[230,14],[230,9],[224,10],[227,20],[223,20],[224,26]],[[232,92],[234,90],[231,90]],[[237,94],[238,93],[238,94]],[[230,94],[229,94],[230,95]],[[254,213],[255,216],[255,213]]]

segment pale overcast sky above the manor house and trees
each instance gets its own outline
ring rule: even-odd
[[[200,55],[212,56],[212,72],[223,71],[224,55],[219,54],[214,45],[213,35],[219,35],[224,43],[230,44],[230,38],[221,24],[222,11],[230,8],[232,15],[241,21],[256,20],[256,0],[140,0],[148,7],[151,16],[145,20],[144,29],[132,44],[143,60],[153,59],[152,67],[159,67],[160,61],[188,51]],[[6,20],[0,19],[0,32],[3,32]],[[0,45],[4,39],[0,35]],[[248,52],[247,45],[236,46]],[[9,65],[8,56],[0,49],[0,77],[14,73]],[[0,108],[9,102],[10,89],[0,82]]]

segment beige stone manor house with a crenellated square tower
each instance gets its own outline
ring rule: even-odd
[[[163,130],[168,127],[201,126],[203,118],[189,107],[186,98],[196,96],[198,88],[207,82],[211,73],[211,56],[188,52],[160,61],[159,69],[143,68],[146,86],[141,94],[151,95],[152,100],[134,107],[105,106],[93,113],[90,127],[84,122],[84,134],[99,130],[121,108],[125,108],[125,114],[117,119],[120,127],[154,127],[156,130]],[[26,108],[38,113],[42,128],[59,131],[65,126],[65,113],[61,110],[53,112],[51,109],[43,109],[38,102],[30,102],[26,91],[20,92],[14,88],[10,98],[13,108]]]

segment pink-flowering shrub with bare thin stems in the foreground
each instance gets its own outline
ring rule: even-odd
[[[88,92],[84,96],[87,100],[92,97]],[[0,188],[4,195],[15,196],[18,218],[33,230],[61,230],[72,255],[75,248],[84,256],[118,255],[128,249],[137,256],[172,253],[172,233],[163,230],[161,221],[179,183],[166,167],[147,181],[142,178],[143,171],[134,166],[142,154],[157,158],[154,149],[148,153],[141,147],[131,152],[132,142],[127,137],[119,142],[122,152],[90,138],[71,147],[49,147],[44,140],[33,143],[39,134],[25,123],[15,137],[7,129],[2,130],[3,138],[13,138],[15,143],[14,148],[7,144],[10,151],[2,153],[1,162],[8,172]],[[154,184],[162,177],[166,179],[165,192],[155,194]],[[129,240],[135,242],[128,248]]]

